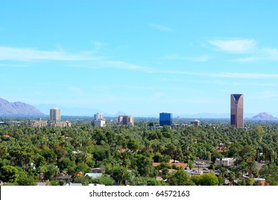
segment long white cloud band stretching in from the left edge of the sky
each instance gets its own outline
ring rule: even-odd
[[[39,51],[34,49],[21,49],[7,46],[0,46],[0,60],[9,61],[31,61],[31,60],[52,60],[52,61],[90,61],[103,59],[92,56],[90,51],[83,51],[71,54],[64,51]]]

